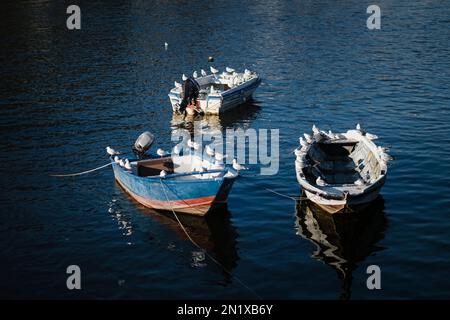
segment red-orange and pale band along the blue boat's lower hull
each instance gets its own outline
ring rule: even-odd
[[[132,191],[130,191],[119,179],[116,179],[119,185],[129,193],[137,202],[143,204],[146,207],[158,210],[168,210],[172,209],[177,212],[189,213],[197,216],[204,216],[209,211],[211,206],[215,203],[225,203],[225,201],[214,201],[216,196],[196,198],[196,199],[186,199],[186,200],[149,200],[141,197]]]

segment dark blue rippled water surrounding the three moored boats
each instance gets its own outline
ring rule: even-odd
[[[69,4],[1,5],[1,297],[254,298],[239,279],[272,299],[450,298],[448,3],[378,1],[377,31],[361,1],[82,1],[79,31],[65,27]],[[206,125],[280,130],[276,176],[243,178],[227,210],[183,220],[232,275],[197,259],[170,216],[130,199],[110,169],[49,177],[104,164],[107,145],[128,150],[144,130],[168,149],[167,93],[208,56],[263,82],[251,105]],[[298,136],[357,122],[395,157],[360,216],[264,189],[300,195]],[[71,264],[81,291],[66,289]],[[378,291],[366,287],[371,264]]]

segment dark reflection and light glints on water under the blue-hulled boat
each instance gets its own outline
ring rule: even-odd
[[[118,187],[120,188],[120,186]],[[172,212],[156,211],[147,208],[135,202],[131,197],[129,197],[129,200],[135,204],[142,214],[166,226],[168,230],[177,234],[180,239],[189,241]],[[133,234],[131,217],[129,214],[124,213],[124,210],[120,208],[117,202],[116,199],[111,200],[108,212],[117,220],[122,234],[130,236]],[[220,263],[224,284],[231,283],[231,272],[237,266],[239,256],[236,241],[237,232],[231,223],[231,213],[228,207],[223,206],[220,209],[216,209],[205,217],[186,214],[178,214],[177,216],[192,240]],[[131,244],[131,242],[128,243]],[[173,250],[174,244],[169,244],[168,249]],[[208,265],[214,265],[214,262],[206,257],[204,251],[194,247],[191,251],[190,264],[194,268],[204,268]]]

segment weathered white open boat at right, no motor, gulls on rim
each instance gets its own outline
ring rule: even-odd
[[[387,175],[391,159],[377,146],[377,136],[356,130],[345,133],[320,131],[300,137],[296,155],[297,180],[305,195],[329,213],[374,200]]]

